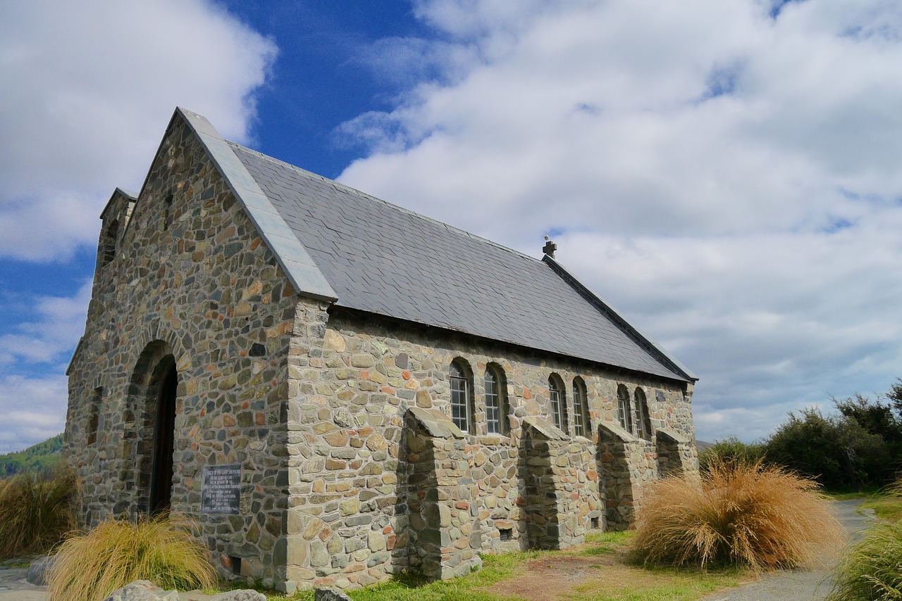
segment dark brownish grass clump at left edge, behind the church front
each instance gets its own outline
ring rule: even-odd
[[[0,558],[49,551],[75,528],[76,482],[62,468],[0,480]]]

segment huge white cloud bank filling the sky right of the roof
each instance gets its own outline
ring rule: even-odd
[[[555,233],[703,378],[704,438],[892,383],[898,3],[415,6],[452,75],[342,126],[346,183],[534,254]]]

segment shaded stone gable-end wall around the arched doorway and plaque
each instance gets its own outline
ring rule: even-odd
[[[107,236],[115,222],[115,237]],[[112,244],[112,246],[111,246]],[[178,370],[171,503],[224,575],[284,580],[288,351],[297,295],[179,118],[140,199],[104,213],[65,453],[83,527],[147,510],[161,374]],[[241,513],[200,514],[204,466],[241,465]],[[283,569],[282,569],[283,571]]]

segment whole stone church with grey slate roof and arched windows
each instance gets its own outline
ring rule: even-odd
[[[177,512],[285,591],[629,527],[697,470],[695,376],[541,260],[177,109],[103,213],[65,453],[80,520]]]

